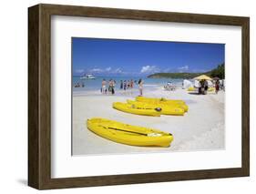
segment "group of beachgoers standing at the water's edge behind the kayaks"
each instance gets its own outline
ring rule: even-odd
[[[114,95],[115,94],[115,87],[116,87],[116,80],[114,79],[110,79],[109,81],[107,81],[106,79],[103,79],[101,82],[101,93],[102,94],[111,94]],[[133,79],[129,79],[129,80],[120,80],[120,90],[124,90],[126,91],[131,91],[134,88],[134,86],[138,85],[138,91],[139,91],[139,96],[142,96],[142,90],[143,90],[143,80],[140,78],[137,82],[137,80],[133,81]]]

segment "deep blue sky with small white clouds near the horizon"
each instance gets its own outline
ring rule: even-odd
[[[72,38],[74,76],[206,72],[223,63],[224,56],[224,44]]]

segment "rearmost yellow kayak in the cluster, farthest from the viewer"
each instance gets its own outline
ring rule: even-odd
[[[168,106],[175,106],[179,105],[179,107],[183,108],[185,112],[188,112],[189,107],[183,100],[179,99],[167,99],[164,97],[161,98],[154,98],[154,97],[136,97],[136,101],[144,102],[148,104],[161,104],[161,105],[168,105]]]

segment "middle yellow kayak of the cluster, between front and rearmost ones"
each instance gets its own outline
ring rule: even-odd
[[[175,115],[175,116],[183,116],[184,115],[184,108],[179,105],[164,105],[164,104],[149,104],[134,100],[127,100],[128,104],[134,105],[136,107],[151,107],[151,108],[158,108],[161,115]]]

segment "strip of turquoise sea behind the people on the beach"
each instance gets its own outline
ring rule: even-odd
[[[133,81],[137,81],[140,77],[96,77],[96,79],[80,79],[80,77],[72,77],[73,82],[73,91],[100,91],[101,88],[101,82],[103,79],[106,79],[109,81],[110,79],[114,79],[116,81],[115,89],[120,88],[120,81],[121,80],[130,80],[133,79]],[[181,86],[183,79],[170,79],[170,78],[148,78],[148,77],[141,77],[144,81],[144,87],[163,87],[168,82],[172,82],[176,86]],[[75,87],[75,85],[79,83],[80,86],[84,85],[84,87]],[[137,85],[135,84],[134,87],[136,88]]]

